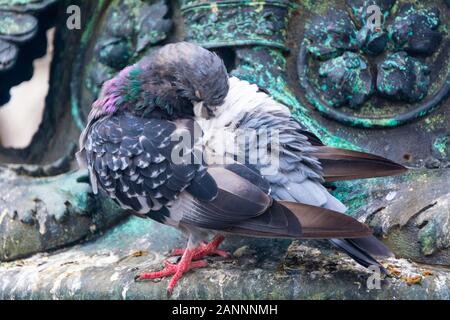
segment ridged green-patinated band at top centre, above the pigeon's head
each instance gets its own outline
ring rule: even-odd
[[[186,1],[181,8],[186,39],[212,48],[285,46],[289,1]]]

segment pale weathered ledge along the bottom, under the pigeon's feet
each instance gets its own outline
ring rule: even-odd
[[[161,268],[163,253],[184,241],[170,227],[134,217],[95,241],[0,264],[0,299],[165,299],[167,279],[134,277]],[[370,290],[373,273],[319,243],[233,238],[225,248],[237,257],[213,258],[188,273],[173,298],[450,299],[448,272],[402,259],[385,261],[396,276]]]

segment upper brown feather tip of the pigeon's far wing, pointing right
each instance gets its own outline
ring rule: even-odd
[[[317,146],[313,155],[322,165],[326,181],[386,177],[407,169],[391,160],[369,153]]]

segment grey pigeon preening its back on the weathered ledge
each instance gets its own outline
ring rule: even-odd
[[[104,83],[77,160],[95,194],[187,236],[186,248],[170,253],[177,263],[136,277],[171,277],[169,296],[184,273],[207,266],[205,257],[229,257],[219,246],[230,234],[326,239],[383,271],[375,257],[392,256],[324,183],[406,168],[324,145],[288,107],[188,42],[167,44]]]

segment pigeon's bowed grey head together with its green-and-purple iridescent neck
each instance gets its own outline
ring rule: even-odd
[[[228,73],[219,56],[178,42],[161,47],[106,81],[93,109],[101,114],[127,110],[177,117],[192,114],[194,106],[201,104],[211,113],[223,104],[228,90]]]

